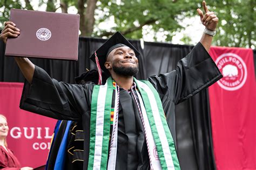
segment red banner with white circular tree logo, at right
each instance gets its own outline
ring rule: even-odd
[[[223,78],[209,88],[217,169],[256,169],[256,85],[253,51],[212,47]]]

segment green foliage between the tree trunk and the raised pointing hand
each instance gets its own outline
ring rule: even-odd
[[[184,0],[123,0],[120,4],[116,1],[102,0],[100,2],[99,10],[106,11],[107,15],[102,15],[96,25],[114,16],[116,26],[112,27],[112,32],[118,30],[126,33],[128,31],[126,37],[138,39],[142,38],[142,31],[139,30],[147,25],[150,26],[151,32],[165,31],[168,40],[171,40],[172,32],[182,28],[178,23],[178,16],[181,15],[184,18],[188,13],[195,11],[195,6],[198,5],[198,2]],[[136,32],[130,33],[129,30],[136,30]],[[97,30],[95,35],[104,35],[104,32],[107,30]]]

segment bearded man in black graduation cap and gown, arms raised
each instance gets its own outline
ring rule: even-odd
[[[176,154],[174,107],[221,78],[208,51],[218,18],[198,9],[204,34],[170,73],[138,81],[139,52],[117,32],[95,54],[99,84],[58,82],[26,58],[15,58],[25,76],[20,107],[44,116],[82,120],[84,169],[180,169]],[[5,23],[1,37],[17,37]],[[157,57],[157,56],[156,56]],[[172,136],[173,134],[173,136]],[[173,140],[174,138],[174,140]]]

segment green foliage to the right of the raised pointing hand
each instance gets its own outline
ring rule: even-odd
[[[212,5],[219,18],[215,45],[255,47],[255,0],[219,0]]]

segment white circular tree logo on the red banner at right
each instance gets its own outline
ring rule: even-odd
[[[225,90],[238,90],[244,86],[247,79],[247,68],[244,60],[234,53],[220,55],[215,61],[223,78],[217,83]]]

